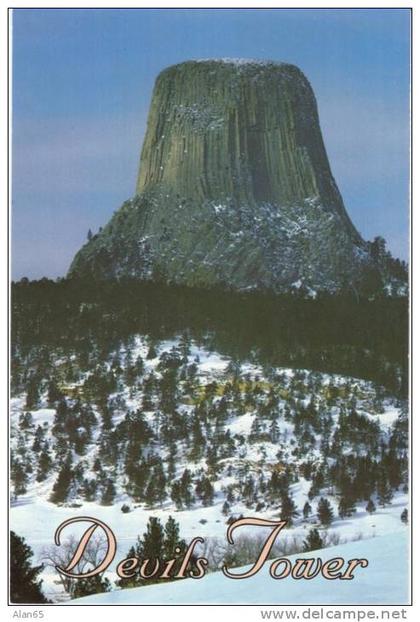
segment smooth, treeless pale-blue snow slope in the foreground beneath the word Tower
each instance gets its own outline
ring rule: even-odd
[[[405,530],[406,531],[406,530]],[[316,576],[311,580],[290,577],[275,580],[268,574],[271,562],[266,562],[257,575],[249,579],[232,580],[221,572],[203,579],[186,579],[177,583],[118,590],[76,599],[77,605],[107,604],[378,604],[399,605],[409,601],[408,544],[406,533],[400,530],[393,535],[351,542],[320,551],[293,555],[290,560],[302,557],[320,557],[323,561],[333,557],[345,560],[365,558],[367,568],[355,571],[351,581],[329,581]],[[236,573],[244,569],[235,570]]]

